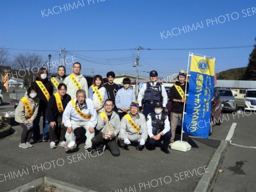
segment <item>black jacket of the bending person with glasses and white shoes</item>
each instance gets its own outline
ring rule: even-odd
[[[70,102],[71,96],[66,94],[62,99],[61,103],[63,106],[63,109],[67,107],[67,103]],[[46,110],[46,118],[49,122],[54,122],[57,121],[58,116],[62,116],[63,113],[60,113],[58,111],[57,103],[56,103],[56,98],[54,95],[52,95],[49,99],[48,102],[48,107]]]

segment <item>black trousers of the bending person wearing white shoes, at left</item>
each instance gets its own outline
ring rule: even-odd
[[[50,130],[49,130],[49,140],[50,140],[50,142],[58,140],[57,134],[58,134],[58,131],[59,131],[59,128],[60,128],[61,129],[60,142],[64,141],[67,128],[65,127],[64,124],[63,125],[61,124],[62,116],[58,116],[58,118],[55,119],[55,122],[56,122],[56,125],[53,128],[50,127]]]

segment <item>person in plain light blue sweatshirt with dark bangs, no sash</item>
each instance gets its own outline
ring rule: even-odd
[[[131,102],[135,101],[135,93],[130,87],[131,79],[124,78],[122,83],[124,87],[116,93],[116,107],[120,120],[130,112]]]

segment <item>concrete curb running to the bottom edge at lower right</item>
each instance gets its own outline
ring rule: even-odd
[[[216,173],[221,166],[224,154],[226,152],[227,141],[222,140],[217,150],[215,151],[209,165],[207,166],[208,172],[199,180],[194,192],[209,192],[212,189],[212,184],[215,180]]]

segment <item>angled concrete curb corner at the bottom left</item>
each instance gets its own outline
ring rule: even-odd
[[[35,189],[41,189],[43,184],[46,189],[50,188],[50,186],[55,186],[58,190],[61,190],[61,192],[96,192],[91,189],[65,183],[49,177],[41,177],[37,180],[33,180],[32,182],[20,186],[10,192],[35,192]]]

